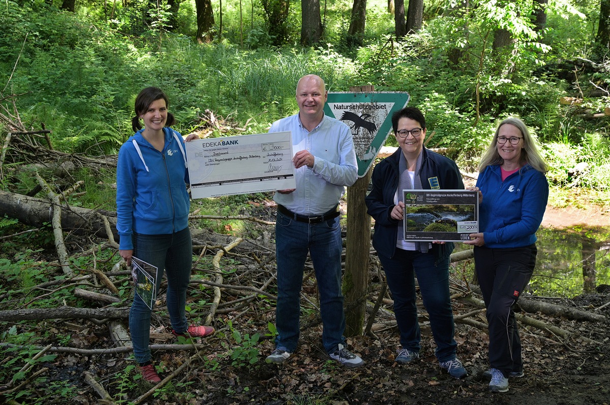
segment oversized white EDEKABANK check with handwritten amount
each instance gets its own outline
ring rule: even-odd
[[[296,188],[290,132],[186,143],[193,199]]]

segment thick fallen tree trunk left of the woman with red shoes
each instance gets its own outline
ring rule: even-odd
[[[47,200],[0,190],[0,212],[20,220],[23,224],[38,228],[43,227],[50,220],[50,209],[51,203]],[[116,234],[117,214],[107,211],[95,211],[77,206],[62,205],[62,228],[64,230],[75,230],[77,233],[82,234],[93,232],[96,236],[107,238],[106,228],[104,227],[101,215],[108,218],[113,236],[115,239],[118,238]]]

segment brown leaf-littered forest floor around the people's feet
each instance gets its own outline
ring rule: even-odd
[[[273,207],[257,207],[259,217],[273,220]],[[264,211],[264,212],[263,212]],[[228,282],[228,281],[227,281]],[[271,290],[274,291],[274,290]],[[308,284],[304,291],[315,295],[315,285]],[[312,293],[312,291],[314,291]],[[211,294],[211,292],[210,292]],[[224,294],[229,294],[223,291]],[[235,297],[232,297],[235,298]],[[571,308],[594,310],[610,301],[610,292],[600,289],[598,294],[587,294],[563,299],[562,305]],[[558,300],[552,300],[557,304]],[[391,309],[391,306],[388,307]],[[454,301],[456,315],[472,311],[472,307]],[[434,357],[434,340],[426,323],[421,319],[422,358],[409,365],[393,361],[399,347],[398,331],[392,317],[383,319],[375,337],[357,336],[348,339],[350,350],[362,356],[364,367],[348,369],[328,359],[321,344],[321,326],[316,314],[309,311],[301,319],[300,346],[281,365],[270,365],[264,357],[273,350],[268,322],[274,321],[273,301],[254,301],[247,311],[235,311],[218,316],[213,337],[201,340],[206,348],[201,356],[190,361],[183,373],[171,384],[159,389],[142,403],[146,404],[610,404],[610,306],[597,313],[606,315],[603,322],[581,322],[532,315],[551,325],[561,326],[572,333],[569,339],[560,339],[550,333],[522,326],[525,377],[509,381],[509,392],[490,393],[481,373],[487,370],[487,334],[473,326],[456,323],[455,337],[458,356],[469,375],[458,380],[441,372]],[[239,314],[239,315],[238,315]],[[231,319],[234,333],[227,327]],[[479,322],[484,315],[478,314]],[[173,343],[163,326],[167,319],[159,316],[153,322],[157,340],[152,343]],[[305,326],[303,326],[305,325]],[[385,326],[383,326],[385,325]],[[70,345],[80,348],[109,348],[106,325],[89,321],[45,321],[38,328],[50,331],[51,339],[45,344]],[[235,331],[242,343],[237,343]],[[166,332],[166,333],[163,333]],[[252,345],[259,355],[235,356],[235,348],[243,347],[244,339],[254,334],[262,339]],[[70,336],[70,342],[65,342]],[[64,340],[61,340],[61,339]],[[586,339],[598,343],[590,343]],[[247,339],[246,339],[247,340]],[[157,351],[153,354],[162,364],[164,378],[188,361],[193,351]],[[76,386],[77,395],[71,398],[50,399],[51,404],[96,404],[99,396],[84,382],[88,372],[110,393],[115,403],[127,404],[152,388],[151,384],[137,379],[134,364],[125,354],[91,355],[59,354],[46,373],[46,384],[69,382]],[[245,359],[245,360],[244,360]],[[256,359],[254,364],[248,360]],[[245,362],[248,365],[239,365]],[[23,403],[28,403],[25,400]]]

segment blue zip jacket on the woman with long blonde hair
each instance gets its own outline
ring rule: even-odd
[[[483,192],[479,232],[483,232],[486,247],[523,247],[536,242],[548,201],[543,173],[526,164],[502,181],[500,165],[487,166],[476,186]]]

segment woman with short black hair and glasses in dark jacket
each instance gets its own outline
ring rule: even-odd
[[[426,120],[422,111],[406,107],[392,116],[400,146],[379,162],[366,197],[368,214],[375,219],[373,247],[386,273],[400,329],[401,348],[396,361],[407,364],[420,357],[420,329],[415,306],[415,276],[429,314],[436,357],[454,378],[467,376],[456,357],[453,311],[449,293],[449,256],[453,243],[404,241],[404,189],[464,189],[453,160],[423,147]]]

